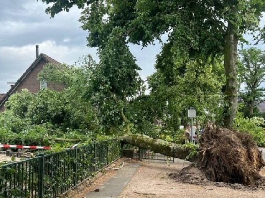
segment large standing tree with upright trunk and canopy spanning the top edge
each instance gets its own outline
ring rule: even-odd
[[[115,27],[128,42],[147,46],[168,34],[190,57],[223,54],[226,74],[224,125],[231,127],[237,109],[237,47],[243,34],[259,29],[263,0],[42,0],[53,3],[46,12],[54,17],[73,5],[82,8],[82,28],[88,45],[105,45]],[[164,47],[167,45],[164,45]],[[168,46],[167,46],[168,47]],[[174,52],[172,52],[174,55]]]

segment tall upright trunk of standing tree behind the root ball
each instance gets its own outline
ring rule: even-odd
[[[228,22],[224,48],[224,68],[226,75],[224,127],[231,128],[237,111],[237,46],[236,27]]]

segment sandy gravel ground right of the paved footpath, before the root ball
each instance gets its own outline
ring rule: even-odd
[[[189,165],[185,162],[167,163],[150,160],[138,169],[120,198],[127,197],[196,197],[196,198],[264,198],[262,190],[243,191],[227,187],[197,186],[171,179],[168,174]],[[262,170],[263,176],[265,171]]]

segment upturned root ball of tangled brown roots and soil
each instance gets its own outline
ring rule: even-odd
[[[211,181],[251,186],[260,179],[259,170],[265,164],[250,135],[219,127],[202,134],[197,160]]]

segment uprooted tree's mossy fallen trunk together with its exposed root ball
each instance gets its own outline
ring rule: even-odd
[[[124,135],[122,143],[180,159],[192,152],[191,147],[140,134]],[[259,174],[265,165],[261,151],[250,135],[234,130],[206,129],[200,139],[198,155],[190,161],[194,162],[191,168],[195,165],[197,172],[210,181],[258,186],[264,180]],[[184,171],[186,173],[186,169]]]

